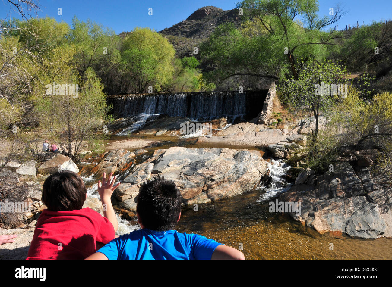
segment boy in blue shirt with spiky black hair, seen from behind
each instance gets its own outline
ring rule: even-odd
[[[161,176],[142,184],[136,212],[142,229],[113,239],[86,259],[245,259],[241,251],[215,240],[173,230],[181,216],[180,191]]]

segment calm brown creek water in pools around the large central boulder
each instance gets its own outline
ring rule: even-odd
[[[113,141],[124,139],[113,137]],[[226,147],[220,144],[195,144],[195,139],[178,137],[150,137],[149,140],[165,141],[161,146],[145,148],[152,153],[158,148]],[[289,215],[270,213],[268,202],[257,202],[264,191],[247,192],[212,204],[198,205],[182,210],[178,231],[198,233],[223,244],[239,248],[246,259],[392,259],[392,238],[376,240],[354,239],[348,236],[319,234],[310,227],[295,222]],[[130,222],[135,224],[136,222]],[[330,250],[333,244],[333,250]]]

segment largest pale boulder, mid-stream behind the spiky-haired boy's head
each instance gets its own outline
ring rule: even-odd
[[[265,171],[264,160],[249,150],[172,147],[156,150],[134,166],[126,178],[129,183],[115,193],[118,206],[134,211],[140,184],[162,174],[174,181],[184,204],[209,202],[254,189]]]

